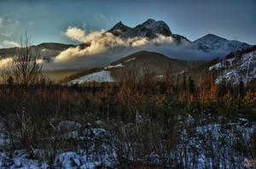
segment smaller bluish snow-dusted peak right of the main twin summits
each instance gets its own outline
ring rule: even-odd
[[[204,52],[214,52],[214,51],[224,51],[227,53],[235,52],[243,48],[249,48],[251,45],[245,42],[239,41],[229,41],[223,37],[218,37],[216,35],[207,34],[204,37],[201,37],[194,42],[199,50]]]

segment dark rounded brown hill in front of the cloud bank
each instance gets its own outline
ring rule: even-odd
[[[155,52],[139,51],[112,62],[104,70],[110,70],[114,79],[121,79],[124,73],[129,71],[136,72],[139,78],[146,72],[151,72],[155,76],[162,76],[166,70],[177,73],[189,69],[189,66],[189,62],[185,60],[171,59],[164,54]]]

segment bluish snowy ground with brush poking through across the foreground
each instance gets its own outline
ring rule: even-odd
[[[53,149],[4,149],[9,143],[8,135],[4,132],[1,137],[0,166],[7,168],[56,168],[56,169],[94,169],[94,168],[119,168],[120,159],[140,162],[150,165],[162,165],[170,168],[182,165],[183,168],[241,168],[245,158],[253,159],[253,132],[255,125],[246,119],[238,121],[226,121],[219,117],[217,121],[209,122],[211,117],[195,120],[191,115],[185,122],[180,121],[180,141],[173,149],[167,149],[164,140],[161,149],[151,148],[152,151],[144,155],[138,155],[137,150],[143,149],[139,141],[132,142],[125,139],[136,130],[132,123],[115,124],[119,131],[123,131],[122,137],[108,130],[103,121],[92,121],[80,124],[75,121],[61,121],[57,125],[52,124],[52,130],[67,131],[62,134],[62,139],[76,140],[83,143],[72,149],[55,149],[54,160],[49,164],[45,154],[51,154]],[[143,132],[143,126],[148,122],[140,115],[138,119],[137,134]],[[42,138],[42,140],[55,140],[58,138]],[[59,138],[58,138],[59,139]],[[137,140],[137,139],[135,139]],[[149,142],[149,140],[148,140]],[[170,140],[172,142],[172,140]],[[84,143],[86,146],[84,147]],[[241,144],[244,149],[236,149]],[[122,152],[123,154],[120,154]],[[175,161],[175,162],[174,162]]]

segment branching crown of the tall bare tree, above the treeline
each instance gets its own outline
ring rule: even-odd
[[[27,86],[39,81],[42,69],[38,49],[30,46],[30,37],[25,34],[25,37],[20,37],[20,48],[16,48],[11,75],[16,83]]]

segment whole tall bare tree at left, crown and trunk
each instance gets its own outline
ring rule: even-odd
[[[15,121],[15,125],[20,127],[20,145],[29,146],[29,137],[31,137],[32,115],[27,113],[29,92],[28,86],[40,82],[42,77],[43,65],[40,63],[40,54],[38,48],[30,46],[30,37],[20,37],[20,47],[15,48],[12,64],[5,70],[5,82],[12,85],[13,82],[22,85],[20,95],[17,94],[17,104],[19,108],[15,114],[8,118]],[[10,133],[12,134],[12,133]]]

